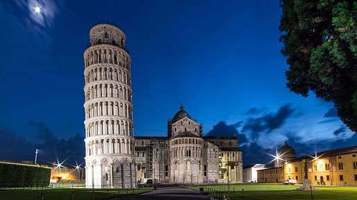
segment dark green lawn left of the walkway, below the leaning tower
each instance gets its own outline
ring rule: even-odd
[[[1,200],[40,200],[41,194],[43,194],[43,200],[71,200],[72,192],[74,194],[74,200],[92,200],[94,193],[95,200],[110,199],[114,197],[124,197],[127,195],[140,194],[143,192],[149,192],[152,188],[140,188],[140,189],[48,189],[48,190],[3,190],[0,191]],[[93,192],[94,191],[94,192]]]

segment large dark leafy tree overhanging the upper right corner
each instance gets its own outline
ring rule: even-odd
[[[287,87],[332,101],[344,124],[357,131],[356,1],[281,0],[281,8]]]

